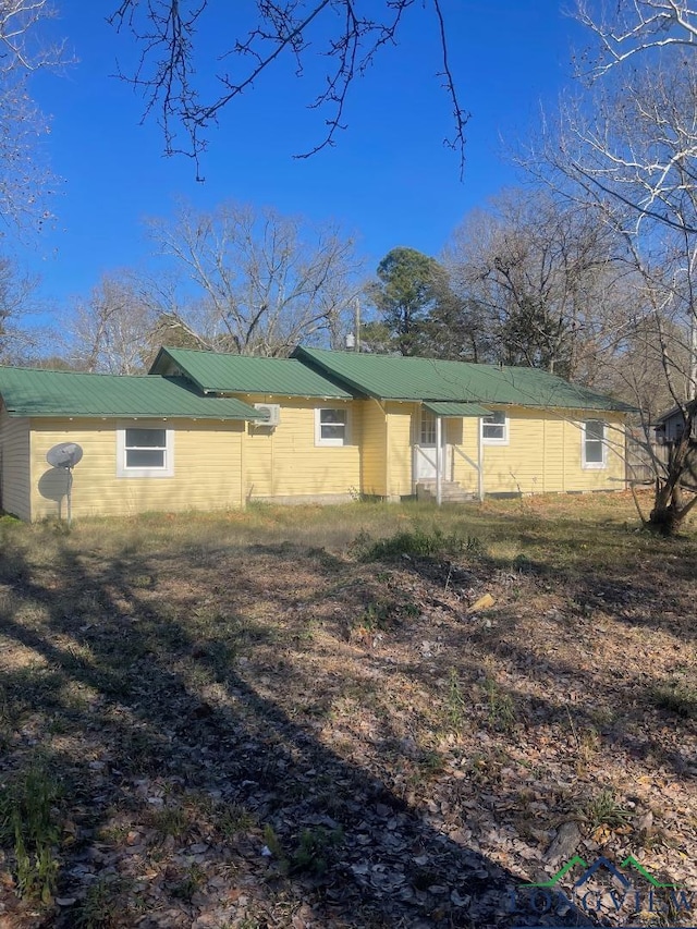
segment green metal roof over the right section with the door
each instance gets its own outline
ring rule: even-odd
[[[537,368],[297,347],[293,357],[380,400],[455,401],[567,410],[634,407]]]

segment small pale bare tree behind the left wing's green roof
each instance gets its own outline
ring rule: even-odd
[[[140,374],[157,351],[156,331],[156,316],[137,279],[125,271],[107,276],[75,307],[70,363],[85,371]]]

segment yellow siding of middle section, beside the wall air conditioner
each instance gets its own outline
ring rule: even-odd
[[[348,494],[360,488],[362,408],[342,401],[244,398],[247,403],[280,403],[277,427],[249,425],[245,437],[247,499]],[[315,444],[315,411],[350,411],[347,445]]]

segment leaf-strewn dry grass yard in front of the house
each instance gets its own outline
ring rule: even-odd
[[[515,925],[574,822],[697,891],[694,527],[614,494],[0,535],[0,926]]]

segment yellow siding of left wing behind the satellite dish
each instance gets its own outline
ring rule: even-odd
[[[33,420],[30,441],[33,519],[64,513],[65,476],[49,467],[46,452],[58,442],[82,445],[74,469],[73,515],[130,515],[149,510],[221,510],[240,506],[243,424],[169,419],[138,426],[174,430],[173,477],[117,477],[117,425],[131,421]]]

